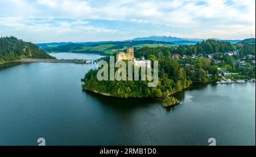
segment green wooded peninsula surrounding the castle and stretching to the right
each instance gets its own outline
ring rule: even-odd
[[[98,69],[91,69],[82,79],[84,90],[98,92],[115,97],[166,97],[166,104],[179,103],[178,100],[168,97],[177,91],[190,86],[193,82],[207,83],[221,79],[219,67],[227,67],[240,76],[255,78],[254,66],[240,66],[234,62],[249,54],[255,54],[255,45],[244,45],[240,54],[229,56],[226,52],[237,50],[235,44],[226,41],[207,40],[196,45],[179,45],[174,47],[148,46],[135,49],[136,58],[144,57],[147,60],[159,62],[159,82],[156,87],[147,87],[147,81],[117,81],[97,80]],[[253,52],[254,50],[254,52]],[[212,58],[208,56],[212,55]],[[114,55],[115,56],[115,55]],[[103,58],[109,62],[109,57]],[[220,62],[216,62],[220,60]],[[115,68],[115,71],[117,68]]]

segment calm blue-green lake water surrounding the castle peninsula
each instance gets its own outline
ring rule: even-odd
[[[0,70],[0,145],[38,145],[39,137],[46,145],[209,145],[212,137],[217,145],[255,145],[255,83],[194,84],[175,94],[182,104],[164,109],[156,99],[83,91],[80,80],[94,67]]]

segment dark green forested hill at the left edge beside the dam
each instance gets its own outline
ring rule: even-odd
[[[0,63],[16,61],[21,58],[54,58],[49,56],[39,46],[24,42],[16,37],[0,38]]]

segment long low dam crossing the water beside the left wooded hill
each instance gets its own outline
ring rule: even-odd
[[[49,62],[49,63],[93,63],[94,60],[59,60],[59,59],[35,59],[35,58],[23,58],[21,62],[33,63],[33,62]]]

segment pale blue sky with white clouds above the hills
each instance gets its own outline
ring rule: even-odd
[[[32,43],[255,37],[255,0],[0,0],[0,36]]]

